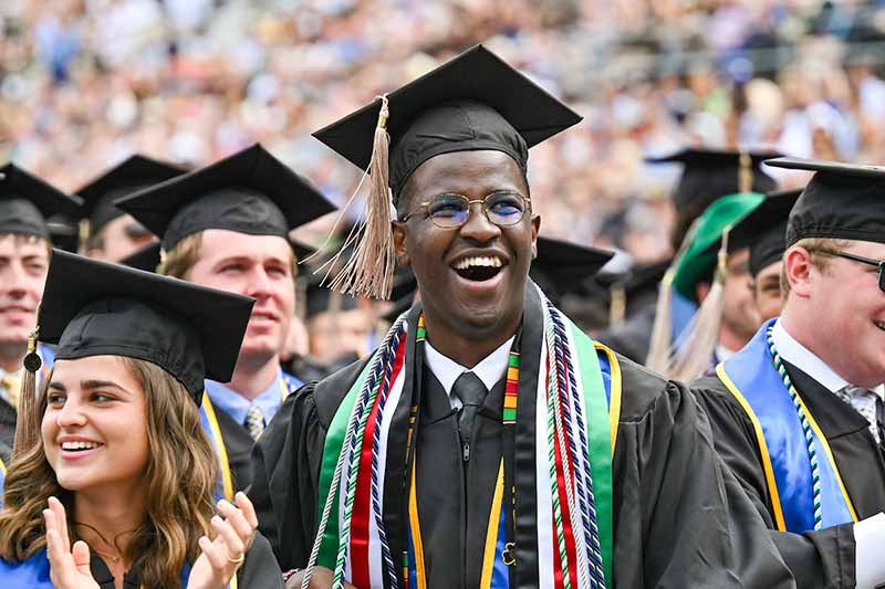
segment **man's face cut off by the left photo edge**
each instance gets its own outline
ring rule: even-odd
[[[0,236],[0,345],[24,344],[49,270],[49,248],[38,238]]]

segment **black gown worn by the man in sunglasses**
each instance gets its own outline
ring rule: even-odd
[[[783,364],[833,451],[857,517],[863,519],[885,509],[885,461],[866,420],[805,372]],[[799,587],[854,587],[853,525],[804,534],[778,532],[749,417],[715,376],[698,379],[691,390],[709,416],[717,451],[762,514]]]

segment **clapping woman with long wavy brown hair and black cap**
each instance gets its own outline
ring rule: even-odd
[[[53,252],[39,339],[58,356],[40,395],[23,396],[0,586],[282,587],[249,499],[216,503],[198,411],[204,378],[230,378],[251,305]]]

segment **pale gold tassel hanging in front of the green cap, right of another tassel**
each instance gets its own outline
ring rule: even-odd
[[[667,378],[689,383],[702,376],[710,367],[710,359],[719,341],[719,325],[722,320],[725,305],[725,284],[728,264],[728,233],[722,232],[722,243],[717,255],[716,272],[712,285],[700,308],[680,338],[680,345],[670,359]]]

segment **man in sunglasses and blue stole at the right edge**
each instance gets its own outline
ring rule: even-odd
[[[816,172],[787,225],[783,309],[693,390],[798,585],[872,588],[885,581],[885,168],[769,164]]]

